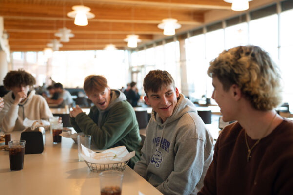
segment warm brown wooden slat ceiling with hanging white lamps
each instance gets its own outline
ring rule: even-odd
[[[74,25],[67,17],[72,6],[90,7],[95,18],[87,26]],[[157,25],[164,18],[176,18],[182,28],[196,28],[210,10],[230,10],[223,0],[0,0],[0,16],[9,34],[10,51],[42,51],[54,33],[66,27],[75,35],[60,50],[103,49],[115,44],[126,49],[127,34],[137,34],[144,44],[162,35]]]

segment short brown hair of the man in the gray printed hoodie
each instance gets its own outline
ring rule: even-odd
[[[144,90],[147,96],[148,91],[158,92],[159,89],[162,89],[162,86],[172,85],[175,87],[175,82],[172,76],[163,70],[151,70],[144,78]]]

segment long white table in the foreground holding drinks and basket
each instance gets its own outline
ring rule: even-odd
[[[20,139],[20,132],[12,132],[12,140]],[[161,195],[161,193],[126,167],[122,195]],[[1,195],[99,195],[99,173],[91,172],[85,162],[78,161],[77,144],[62,137],[53,145],[52,135],[46,133],[45,150],[41,154],[24,156],[21,171],[10,171],[9,152],[0,151]]]

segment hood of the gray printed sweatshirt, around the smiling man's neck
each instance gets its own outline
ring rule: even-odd
[[[165,125],[173,122],[174,120],[177,120],[178,118],[189,112],[197,113],[196,106],[189,99],[185,98],[183,94],[179,94],[179,99],[173,110],[173,114],[168,117],[164,123],[162,123],[162,119],[154,110],[152,111],[152,117],[160,127],[164,127]]]

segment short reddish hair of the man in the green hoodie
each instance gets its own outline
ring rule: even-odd
[[[86,94],[92,94],[94,91],[102,92],[106,87],[108,87],[108,81],[102,75],[89,75],[84,79]]]

